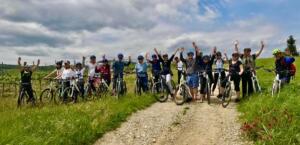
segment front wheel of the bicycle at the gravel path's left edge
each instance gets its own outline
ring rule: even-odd
[[[159,82],[154,83],[152,92],[154,93],[154,96],[157,101],[166,102],[168,100],[169,92],[167,91],[166,85],[162,85]]]

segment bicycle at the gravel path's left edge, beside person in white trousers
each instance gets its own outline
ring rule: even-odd
[[[174,82],[172,83],[172,86],[174,87]],[[169,98],[169,95],[171,95],[171,91],[166,83],[166,78],[164,75],[160,75],[157,82],[153,84],[152,87],[152,93],[155,94],[155,98],[159,102],[166,102]]]

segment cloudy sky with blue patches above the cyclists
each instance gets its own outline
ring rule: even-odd
[[[299,0],[0,0],[0,61],[79,60],[117,53],[217,46],[258,49],[264,57],[300,37]],[[297,42],[300,47],[300,42]]]

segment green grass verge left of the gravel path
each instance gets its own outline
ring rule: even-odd
[[[0,144],[93,144],[130,114],[156,102],[152,95],[130,93],[134,75],[126,76],[126,81],[129,94],[119,100],[108,96],[72,105],[17,109],[15,96],[0,97]]]

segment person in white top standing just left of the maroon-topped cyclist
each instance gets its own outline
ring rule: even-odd
[[[96,91],[96,87],[95,87],[95,69],[97,66],[97,62],[96,62],[96,56],[92,55],[90,56],[90,61],[89,63],[86,65],[86,68],[88,69],[88,83],[91,87],[91,90],[89,90],[89,93],[91,94],[91,91]]]

